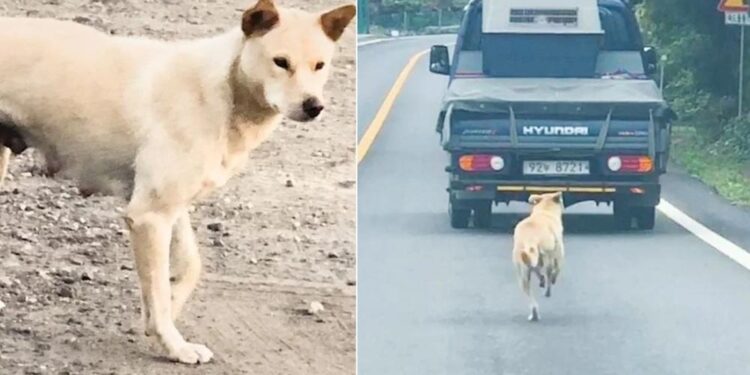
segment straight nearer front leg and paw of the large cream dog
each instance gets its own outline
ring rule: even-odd
[[[131,202],[126,222],[141,283],[146,333],[156,335],[172,360],[208,362],[213,353],[203,345],[185,341],[172,320],[169,247],[174,215],[135,207]]]

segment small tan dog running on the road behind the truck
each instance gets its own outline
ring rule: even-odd
[[[531,290],[531,274],[539,279],[539,286],[546,287],[545,296],[552,295],[552,285],[562,268],[565,250],[563,247],[563,198],[562,193],[531,195],[531,215],[523,219],[513,233],[513,265],[518,282],[529,298],[531,313],[529,321],[539,320],[539,304]]]

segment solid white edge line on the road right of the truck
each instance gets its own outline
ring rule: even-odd
[[[664,199],[661,200],[656,208],[668,218],[672,219],[672,221],[687,229],[688,232],[703,240],[703,242],[711,245],[711,247],[739,263],[742,267],[750,270],[750,253],[745,249],[735,245],[732,241],[729,241],[711,229],[708,229],[705,225],[691,218]]]

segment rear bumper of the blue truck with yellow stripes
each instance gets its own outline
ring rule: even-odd
[[[452,181],[448,191],[456,203],[471,201],[526,201],[531,194],[562,191],[566,205],[583,201],[623,201],[633,206],[656,206],[661,197],[658,180],[649,181]]]

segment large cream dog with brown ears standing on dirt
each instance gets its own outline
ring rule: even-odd
[[[355,12],[258,0],[232,30],[177,42],[0,18],[0,49],[11,51],[0,54],[0,175],[11,152],[31,147],[82,193],[128,200],[145,333],[168,358],[213,357],[174,324],[201,270],[189,206],[241,170],[283,117],[318,117]]]

